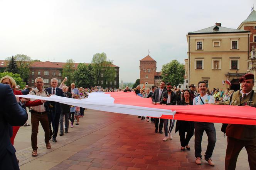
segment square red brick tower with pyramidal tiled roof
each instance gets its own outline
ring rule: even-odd
[[[140,86],[146,87],[155,85],[155,72],[157,71],[157,62],[149,55],[140,60]]]

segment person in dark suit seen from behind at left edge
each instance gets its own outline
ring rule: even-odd
[[[0,83],[0,107],[0,169],[19,170],[16,150],[10,141],[9,131],[11,126],[24,125],[28,115],[17,103],[10,86],[2,83]]]

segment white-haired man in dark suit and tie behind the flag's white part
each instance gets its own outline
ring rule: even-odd
[[[51,95],[57,95],[57,96],[63,96],[63,92],[60,88],[57,87],[58,85],[58,79],[57,78],[52,78],[51,79],[51,86],[49,88],[46,88],[45,90],[51,94]],[[61,115],[61,103],[58,102],[51,102],[51,106],[50,106],[50,120],[52,122],[52,128],[53,128],[53,135],[52,135],[52,128],[51,128],[51,122],[49,122],[50,125],[50,131],[51,131],[51,135],[52,135],[52,141],[53,142],[57,142],[56,137],[58,134],[58,130],[59,130],[59,118]],[[51,138],[50,135],[50,138]]]

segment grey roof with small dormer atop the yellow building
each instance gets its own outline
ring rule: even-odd
[[[214,28],[218,27],[218,31],[215,31]],[[220,27],[220,26],[212,26],[208,28],[204,28],[202,30],[194,31],[194,32],[189,32],[188,34],[206,34],[206,33],[238,33],[238,32],[249,32],[246,30],[237,30],[237,29],[232,29],[232,28],[226,28],[226,27]]]

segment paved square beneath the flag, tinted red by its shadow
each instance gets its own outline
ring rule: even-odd
[[[41,142],[37,157],[31,156],[31,147],[18,150],[16,155],[21,170],[223,170],[227,138],[220,131],[221,124],[215,123],[215,127],[217,142],[212,155],[215,167],[204,160],[202,165],[195,164],[194,137],[189,143],[191,150],[181,151],[178,133],[172,133],[173,140],[163,142],[164,135],[155,133],[150,122],[132,115],[95,110],[86,110],[79,125],[57,137],[57,143],[51,141],[50,150]],[[20,129],[17,135],[22,131],[24,129]],[[19,142],[15,145],[19,147]],[[206,147],[204,133],[202,155]],[[237,169],[249,169],[245,149],[239,155]]]

